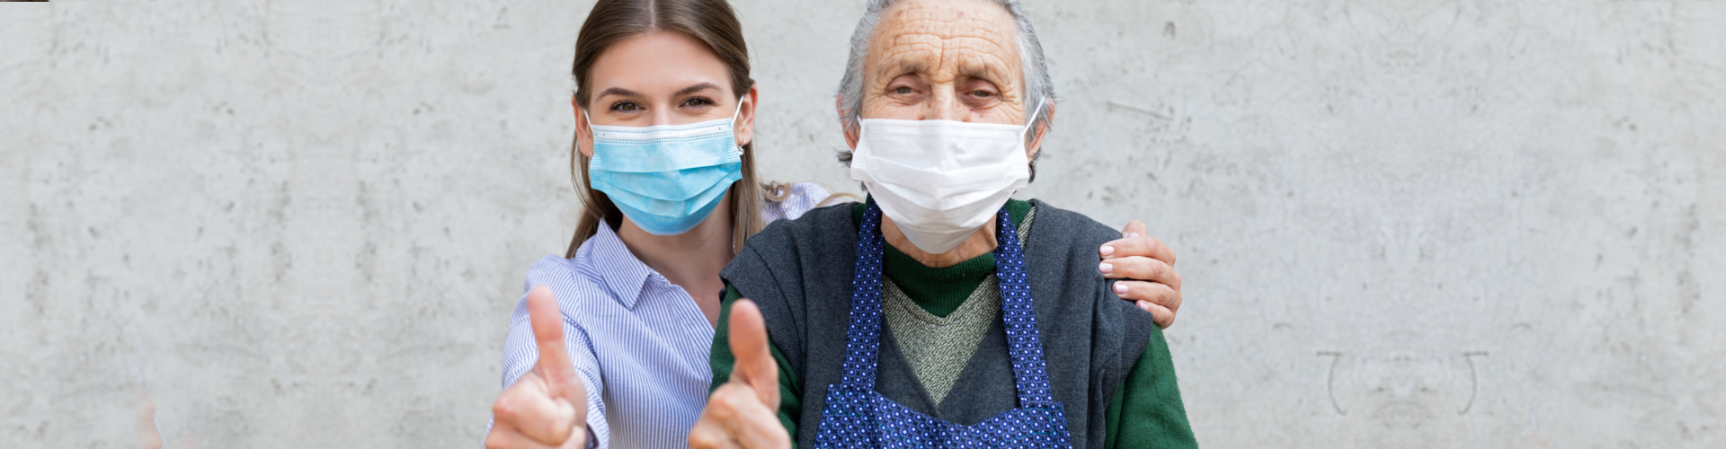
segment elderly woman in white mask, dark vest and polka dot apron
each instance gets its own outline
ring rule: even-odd
[[[694,447],[1191,447],[1115,233],[1041,200],[1055,95],[1017,0],[872,0],[839,90],[870,199],[751,238]],[[747,299],[744,299],[747,297]]]

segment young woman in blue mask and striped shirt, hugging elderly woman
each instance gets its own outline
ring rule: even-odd
[[[725,0],[601,0],[571,76],[587,212],[564,257],[528,269],[485,446],[685,447],[713,376],[720,269],[765,223],[830,199],[758,183],[756,88]],[[1172,273],[1167,247],[1132,235],[1101,252],[1110,278],[1144,280],[1124,299],[1174,318],[1179,281],[1151,275]]]

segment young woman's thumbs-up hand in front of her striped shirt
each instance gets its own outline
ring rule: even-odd
[[[587,389],[564,349],[563,311],[551,288],[528,292],[528,321],[539,342],[539,364],[492,402],[495,423],[485,447],[585,447]]]

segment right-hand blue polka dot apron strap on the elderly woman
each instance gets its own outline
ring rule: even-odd
[[[1049,368],[1043,359],[1043,338],[1037,337],[1037,311],[1030,304],[1030,276],[1025,273],[1025,254],[1018,231],[1006,207],[994,218],[994,273],[1001,283],[1001,319],[1006,323],[1006,347],[1013,356],[1013,383],[1018,387],[1018,406],[1051,404]]]

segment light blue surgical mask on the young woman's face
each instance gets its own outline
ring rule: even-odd
[[[742,111],[742,104],[739,104]],[[587,174],[594,188],[654,235],[685,233],[742,180],[730,119],[661,126],[595,126]]]

